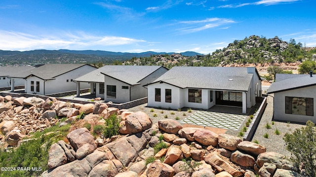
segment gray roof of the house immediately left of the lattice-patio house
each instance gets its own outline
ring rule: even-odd
[[[136,85],[160,67],[163,66],[105,65],[74,81],[104,83],[104,75],[106,75],[126,84]]]

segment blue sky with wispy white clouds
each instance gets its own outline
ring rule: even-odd
[[[259,35],[316,46],[315,0],[0,0],[0,50],[202,54]]]

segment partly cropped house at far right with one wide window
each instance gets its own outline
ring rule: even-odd
[[[276,82],[268,89],[274,93],[274,119],[316,123],[316,76],[308,74],[276,74]]]

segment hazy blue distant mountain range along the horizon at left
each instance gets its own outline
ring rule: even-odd
[[[150,57],[153,55],[171,55],[174,53],[127,53],[127,52],[109,52],[109,51],[93,51],[93,50],[32,50],[32,51],[4,51],[0,50],[0,63],[2,64],[34,64],[34,63],[97,63],[111,64],[114,61],[122,62],[134,57]],[[201,55],[196,52],[182,53],[184,56]],[[119,63],[118,62],[118,63]]]

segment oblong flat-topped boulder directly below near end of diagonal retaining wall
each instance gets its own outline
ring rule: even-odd
[[[237,149],[249,154],[258,156],[259,154],[266,152],[266,148],[253,142],[242,141],[237,145]]]

